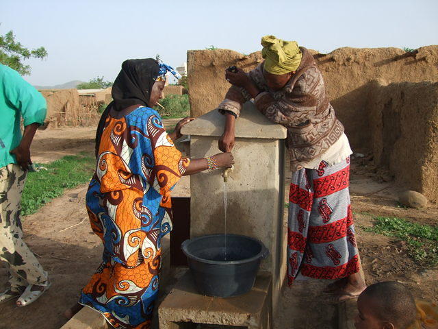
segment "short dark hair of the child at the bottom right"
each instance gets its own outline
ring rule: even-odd
[[[388,281],[370,285],[361,296],[372,298],[378,306],[374,312],[381,321],[388,321],[396,328],[408,328],[415,321],[415,300],[404,284]]]

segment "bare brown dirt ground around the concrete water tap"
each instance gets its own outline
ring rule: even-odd
[[[92,154],[94,131],[94,127],[38,131],[31,149],[33,160],[44,163],[81,151]],[[438,268],[425,271],[407,257],[401,243],[363,231],[372,225],[372,215],[438,225],[438,206],[398,208],[400,189],[391,182],[378,182],[362,162],[352,160],[351,195],[367,283],[398,280],[409,284],[416,297],[438,302]],[[183,178],[173,195],[188,195],[189,182]],[[79,290],[101,260],[101,242],[91,232],[84,206],[87,187],[68,190],[38,213],[25,217],[25,240],[49,271],[53,284],[38,302],[25,308],[17,308],[14,302],[0,304],[0,329],[57,329],[66,322],[62,313],[77,302]],[[0,285],[6,282],[7,270],[2,263]],[[274,318],[276,328],[335,328],[335,306],[323,302],[323,285],[313,280],[296,281],[292,289],[285,289],[281,312]]]

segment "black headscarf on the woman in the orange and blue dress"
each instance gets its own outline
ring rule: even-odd
[[[159,64],[153,58],[143,60],[125,60],[122,70],[118,73],[112,86],[113,101],[105,108],[97,125],[96,131],[96,157],[105,121],[110,110],[121,111],[129,106],[141,104],[149,105],[152,86],[159,73]]]

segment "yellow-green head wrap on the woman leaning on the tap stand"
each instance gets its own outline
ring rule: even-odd
[[[263,68],[272,74],[296,71],[300,66],[302,52],[296,41],[285,41],[275,36],[261,38],[261,56],[265,58]]]

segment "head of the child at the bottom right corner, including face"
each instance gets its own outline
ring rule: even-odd
[[[413,295],[398,282],[372,284],[359,295],[357,309],[357,329],[406,329],[416,315]]]

